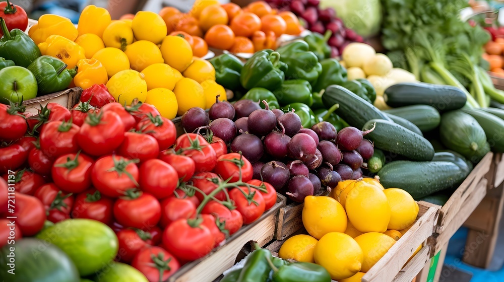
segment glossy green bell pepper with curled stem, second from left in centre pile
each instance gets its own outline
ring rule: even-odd
[[[262,87],[275,90],[285,79],[287,64],[280,61],[280,54],[271,49],[256,52],[241,69],[240,83],[245,89]]]

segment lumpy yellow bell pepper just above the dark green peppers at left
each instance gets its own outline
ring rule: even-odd
[[[45,42],[38,44],[42,55],[49,55],[64,61],[67,68],[74,68],[77,62],[85,59],[84,48],[74,41],[60,35],[51,35]]]

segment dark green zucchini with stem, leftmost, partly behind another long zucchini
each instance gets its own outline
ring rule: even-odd
[[[328,106],[339,104],[340,107],[336,109],[335,113],[350,126],[357,128],[362,128],[370,119],[392,121],[375,106],[339,85],[329,86],[322,95],[322,102]]]

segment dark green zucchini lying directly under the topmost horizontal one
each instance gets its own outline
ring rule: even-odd
[[[428,105],[404,106],[385,110],[384,112],[411,121],[418,126],[422,132],[427,132],[436,128],[441,121],[439,112],[434,107]]]

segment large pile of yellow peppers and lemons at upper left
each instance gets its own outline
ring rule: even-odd
[[[193,56],[184,38],[167,36],[165,22],[153,12],[111,20],[106,9],[91,5],[77,27],[67,18],[43,15],[28,35],[42,55],[77,67],[73,85],[106,84],[121,104],[138,98],[171,119],[192,107],[209,108],[217,95],[226,99],[212,64]]]

